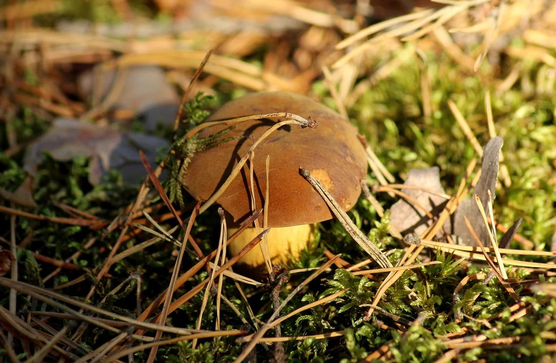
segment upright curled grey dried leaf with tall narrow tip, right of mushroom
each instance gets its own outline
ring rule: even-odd
[[[476,194],[479,196],[484,210],[488,210],[488,190],[492,193],[492,198],[496,198],[495,190],[498,179],[498,160],[500,158],[502,144],[504,144],[504,140],[500,137],[495,137],[489,140],[483,151],[481,177],[475,185],[472,195]],[[469,219],[481,242],[485,246],[490,246],[488,229],[484,224],[483,216],[481,216],[479,207],[477,206],[474,197],[463,200],[454,213],[453,234],[458,237],[458,243],[468,246],[476,246],[476,242],[465,224],[465,220],[463,218],[464,216]]]

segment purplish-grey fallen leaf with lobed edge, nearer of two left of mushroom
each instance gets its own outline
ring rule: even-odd
[[[170,142],[153,135],[57,119],[53,127],[28,148],[24,169],[35,175],[44,160],[44,152],[61,162],[88,157],[91,158],[89,181],[92,185],[100,184],[110,169],[118,170],[126,183],[135,184],[146,175],[139,150],[155,163],[157,151],[169,146]]]

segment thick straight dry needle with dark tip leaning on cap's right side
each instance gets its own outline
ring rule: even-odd
[[[328,191],[322,186],[318,180],[311,176],[311,173],[307,169],[300,169],[301,175],[311,183],[313,188],[322,196],[322,199],[329,206],[330,210],[334,215],[340,220],[340,223],[346,229],[347,233],[353,237],[353,239],[363,248],[366,253],[368,253],[375,261],[383,268],[392,267],[392,264],[386,258],[384,253],[372,243],[367,236],[359,230],[351,221],[349,216],[345,213],[344,209],[337,203],[336,200],[328,193]]]

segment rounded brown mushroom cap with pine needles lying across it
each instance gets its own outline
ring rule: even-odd
[[[348,120],[325,105],[304,95],[288,92],[260,92],[233,100],[216,110],[207,121],[225,120],[257,114],[290,112],[312,117],[319,124],[315,130],[286,125],[270,134],[255,149],[254,180],[257,208],[262,208],[266,191],[266,156],[270,155],[269,227],[317,223],[332,218],[325,201],[299,174],[299,168],[311,174],[349,210],[361,193],[365,177],[365,149],[357,129]],[[251,145],[279,119],[251,120],[239,123],[224,135],[245,136],[198,153],[188,167],[185,182],[197,200],[207,200],[229,177]],[[208,137],[227,126],[215,125],[198,133]],[[217,203],[239,223],[251,213],[249,162]]]

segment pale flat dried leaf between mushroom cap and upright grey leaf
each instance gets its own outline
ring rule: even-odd
[[[426,189],[438,191],[439,193],[444,193],[444,188],[440,184],[438,167],[409,170],[404,185],[421,186]],[[401,191],[416,199],[419,204],[433,215],[438,215],[446,204],[446,199],[427,191],[418,189],[401,189]],[[405,199],[398,200],[390,208],[390,218],[391,223],[402,235],[409,233],[420,235],[433,223],[433,221],[426,216],[423,209]]]

